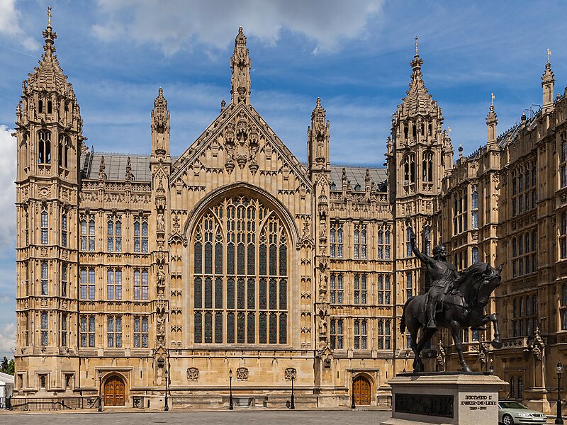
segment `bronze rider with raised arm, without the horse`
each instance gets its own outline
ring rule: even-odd
[[[437,304],[443,302],[443,297],[453,289],[453,284],[459,278],[455,266],[447,262],[447,246],[439,244],[433,249],[433,258],[423,254],[415,246],[415,233],[410,228],[410,244],[412,251],[418,259],[425,264],[431,285],[427,292],[427,328],[437,329],[435,313]]]

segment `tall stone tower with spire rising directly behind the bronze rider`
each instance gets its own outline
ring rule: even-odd
[[[416,37],[415,56],[410,62],[410,89],[398,105],[398,111],[392,115],[391,138],[388,138],[386,153],[395,227],[394,273],[398,283],[395,304],[399,310],[396,311],[398,317],[408,297],[417,295],[427,286],[426,273],[417,273],[420,261],[411,252],[408,229],[410,226],[413,228],[420,249],[431,254],[434,235],[430,217],[434,212],[435,199],[441,192],[441,180],[453,166],[451,142],[442,130],[443,114],[425,87],[422,64]],[[418,281],[420,276],[423,276],[422,282]],[[405,345],[403,342],[398,347],[405,348]]]

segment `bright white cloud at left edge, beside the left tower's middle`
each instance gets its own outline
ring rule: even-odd
[[[12,247],[16,234],[16,137],[5,125],[0,125],[0,246]]]

